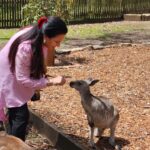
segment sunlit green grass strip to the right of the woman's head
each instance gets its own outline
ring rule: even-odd
[[[129,33],[142,31],[149,27],[150,22],[112,22],[101,24],[70,25],[67,39],[107,38],[113,33]]]

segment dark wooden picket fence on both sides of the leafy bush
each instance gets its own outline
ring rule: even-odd
[[[122,19],[125,13],[150,13],[150,0],[72,0],[70,23]],[[21,26],[28,0],[0,0],[0,28]]]

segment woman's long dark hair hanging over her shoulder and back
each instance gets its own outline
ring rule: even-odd
[[[65,22],[59,17],[49,17],[44,24],[40,24],[40,28],[39,23],[37,25],[34,25],[29,31],[19,36],[12,43],[8,55],[11,71],[15,71],[15,57],[19,44],[23,41],[31,40],[33,55],[30,66],[30,77],[34,79],[43,77],[46,73],[42,51],[44,35],[52,38],[59,34],[66,34],[67,32],[68,29]]]

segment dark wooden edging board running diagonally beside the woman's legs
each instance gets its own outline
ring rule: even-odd
[[[58,150],[84,150],[84,148],[65,135],[60,129],[53,124],[49,124],[40,118],[33,110],[30,111],[30,122],[44,135]]]

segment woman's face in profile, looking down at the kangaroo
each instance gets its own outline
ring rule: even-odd
[[[53,48],[55,49],[56,47],[60,46],[60,43],[64,40],[65,34],[59,34],[55,37],[49,38],[47,36],[44,37],[45,40],[45,45],[47,48]]]

